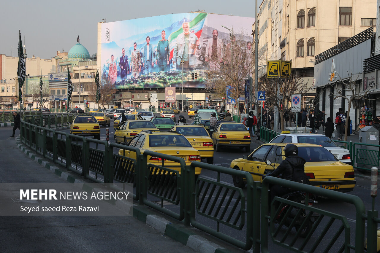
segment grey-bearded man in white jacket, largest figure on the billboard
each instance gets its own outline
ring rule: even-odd
[[[183,33],[177,36],[176,45],[173,51],[173,63],[177,63],[178,67],[194,68],[196,63],[196,49],[201,49],[198,37],[194,33],[190,33],[188,22],[182,24]],[[181,63],[183,60],[183,63]],[[183,65],[180,65],[183,64]]]

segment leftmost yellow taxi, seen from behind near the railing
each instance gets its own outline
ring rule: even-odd
[[[76,116],[73,122],[68,122],[68,124],[70,125],[70,134],[93,136],[100,140],[100,126],[94,116]]]

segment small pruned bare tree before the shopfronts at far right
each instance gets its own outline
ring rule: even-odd
[[[347,119],[345,122],[345,131],[344,131],[344,141],[347,141],[348,124],[350,123],[350,122],[348,122],[348,117],[350,115],[350,110],[351,110],[353,101],[355,99],[359,100],[359,99],[363,98],[364,96],[368,95],[368,93],[373,90],[372,88],[376,87],[376,86],[372,86],[367,90],[360,91],[361,82],[358,82],[358,78],[360,75],[359,74],[352,74],[352,73],[348,73],[348,72],[347,72],[347,74],[348,74],[347,80],[341,81],[342,78],[340,78],[340,76],[338,74],[339,80],[337,80],[335,82],[335,84],[337,84],[338,82],[340,82],[342,84],[341,87],[344,87],[345,95],[343,95],[343,92],[342,92],[343,89],[339,89],[338,85],[335,85],[335,86],[330,85],[330,86],[333,86],[334,89],[337,90],[336,94],[330,92],[330,94],[331,94],[331,96],[333,96],[334,100],[337,98],[344,98],[348,102]],[[356,76],[356,78],[353,76]]]

